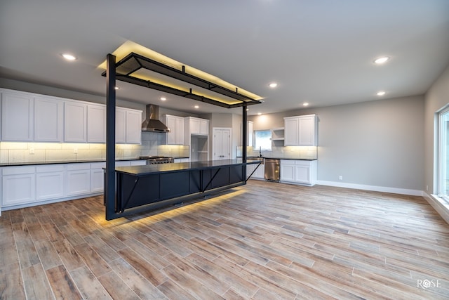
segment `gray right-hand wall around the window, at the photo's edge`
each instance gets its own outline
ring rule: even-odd
[[[424,188],[427,193],[437,193],[438,182],[434,161],[438,157],[436,140],[436,112],[449,104],[449,66],[434,82],[425,95],[424,105]]]

